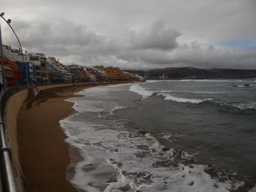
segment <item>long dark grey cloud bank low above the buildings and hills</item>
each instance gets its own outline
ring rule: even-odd
[[[256,60],[255,49],[218,47],[199,41],[178,43],[181,32],[162,21],[134,26],[121,34],[105,35],[60,18],[54,23],[25,23],[18,33],[29,51],[44,52],[52,57],[75,57],[84,65],[254,68]]]

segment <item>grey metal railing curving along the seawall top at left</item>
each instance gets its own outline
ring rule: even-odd
[[[18,192],[18,185],[14,175],[14,168],[12,164],[12,152],[7,145],[7,138],[5,133],[5,124],[3,122],[4,110],[7,101],[14,93],[27,89],[27,85],[15,86],[7,89],[0,98],[0,171],[2,181],[2,191]]]

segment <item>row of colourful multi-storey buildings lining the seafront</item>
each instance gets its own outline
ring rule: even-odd
[[[28,53],[6,45],[3,45],[3,56],[6,86],[31,83],[138,81],[142,78],[124,72],[118,67],[87,67],[75,63],[64,65],[59,59],[46,57],[44,53]],[[2,78],[0,81],[2,82]]]

